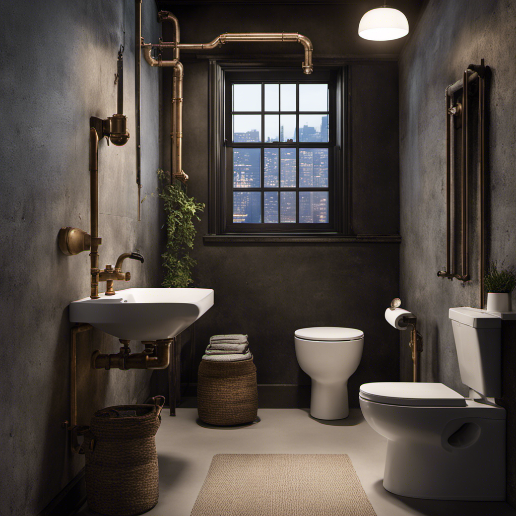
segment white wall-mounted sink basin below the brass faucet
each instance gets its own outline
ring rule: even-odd
[[[126,288],[70,303],[70,320],[130,341],[172,338],[213,306],[211,288]]]

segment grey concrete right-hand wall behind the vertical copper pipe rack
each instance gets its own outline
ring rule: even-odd
[[[486,192],[490,206],[488,259],[516,265],[515,19],[513,0],[430,0],[399,63],[401,298],[404,307],[417,315],[423,334],[422,379],[443,382],[464,395],[467,389],[460,380],[448,308],[479,307],[478,222],[474,220],[472,227],[472,280],[463,283],[438,278],[437,271],[446,263],[444,90],[462,77],[470,63],[479,63],[481,58],[492,69]],[[410,362],[404,341],[404,380],[410,378]],[[508,410],[513,410],[513,379],[505,375],[503,381]],[[508,436],[515,430],[513,419],[509,414]],[[508,453],[508,461],[513,463],[514,448],[508,448]],[[514,478],[509,478],[511,485],[508,499],[514,505]]]

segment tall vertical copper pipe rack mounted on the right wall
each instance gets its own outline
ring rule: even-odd
[[[485,271],[485,176],[486,176],[486,156],[485,156],[485,127],[486,127],[486,79],[489,67],[485,66],[483,59],[480,65],[469,65],[464,70],[462,79],[446,88],[446,269],[440,270],[437,275],[442,278],[452,280],[456,278],[460,281],[471,279],[469,269],[469,240],[470,240],[470,203],[469,203],[469,184],[472,168],[472,151],[470,133],[472,131],[469,123],[471,108],[469,106],[469,92],[472,84],[478,83],[478,141],[476,164],[478,167],[478,215],[479,215],[479,283],[480,308],[484,305],[483,277]],[[457,94],[462,89],[462,95]],[[452,131],[454,127],[461,128],[461,151],[460,151],[460,182],[456,181],[454,167],[454,151]],[[456,185],[458,183],[458,185]],[[460,197],[460,257],[461,268],[456,271],[456,216],[455,196],[456,186],[460,185],[458,195]],[[458,215],[458,214],[457,214]]]

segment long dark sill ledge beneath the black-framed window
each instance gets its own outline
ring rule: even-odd
[[[204,244],[234,244],[234,243],[292,243],[292,244],[399,244],[400,235],[341,235],[341,234],[283,234],[283,235],[251,235],[227,234],[204,235]]]

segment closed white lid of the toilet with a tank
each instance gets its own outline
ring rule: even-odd
[[[465,407],[466,400],[443,383],[375,382],[360,386],[360,397],[377,403],[416,407]]]

